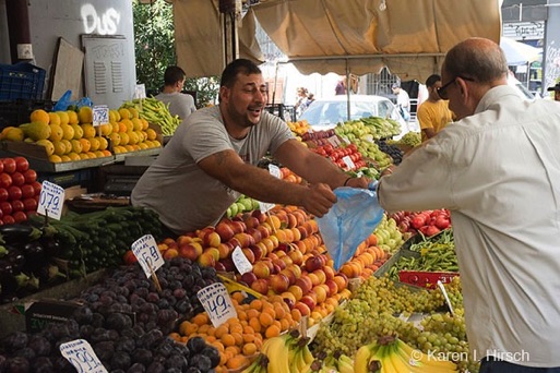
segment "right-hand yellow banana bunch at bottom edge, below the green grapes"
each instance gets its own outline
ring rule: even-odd
[[[384,337],[362,346],[354,359],[355,373],[446,373],[458,372],[455,363],[413,349],[396,337]]]

